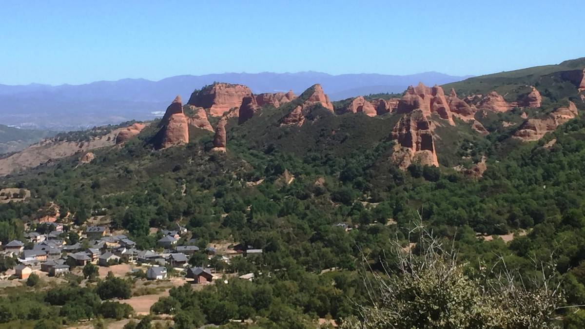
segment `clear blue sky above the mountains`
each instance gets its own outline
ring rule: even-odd
[[[585,56],[580,0],[0,1],[1,84],[479,75]]]

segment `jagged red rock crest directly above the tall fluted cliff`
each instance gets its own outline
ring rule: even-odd
[[[429,88],[419,83],[417,87],[408,87],[406,93],[398,102],[397,112],[409,113],[417,108],[421,109],[425,116],[430,116],[432,112],[436,112],[450,125],[455,125],[449,104],[445,98],[445,92],[438,85]]]

